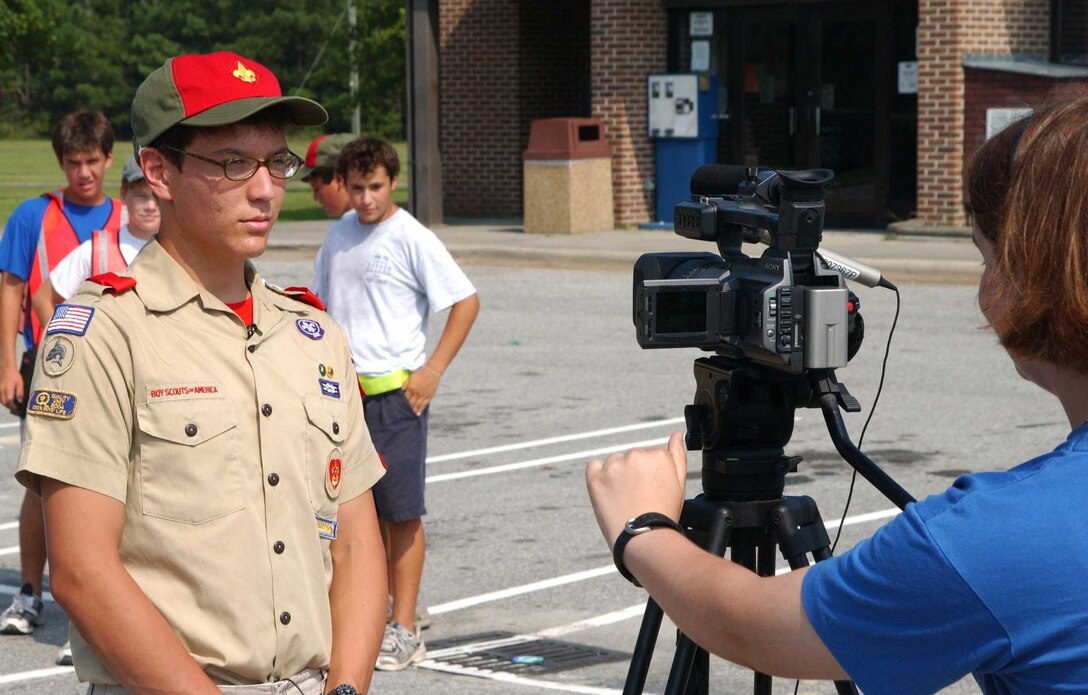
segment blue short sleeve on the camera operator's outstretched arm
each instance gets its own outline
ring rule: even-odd
[[[1007,662],[1010,640],[915,505],[805,575],[805,612],[866,695],[934,693]]]

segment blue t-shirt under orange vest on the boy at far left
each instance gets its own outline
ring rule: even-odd
[[[24,200],[8,218],[3,236],[0,237],[0,271],[16,275],[24,282],[29,280],[34,252],[38,248],[38,238],[41,235],[41,220],[46,216],[49,201],[46,196]],[[95,229],[106,226],[110,220],[110,212],[112,212],[110,198],[97,206],[79,206],[70,200],[64,201],[64,214],[81,244],[89,239]],[[58,258],[55,262],[60,260]],[[34,344],[29,325],[24,327],[23,338],[26,345]]]

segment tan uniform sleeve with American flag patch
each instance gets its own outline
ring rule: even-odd
[[[42,338],[15,477],[35,493],[44,476],[125,502],[132,360],[116,324],[100,308],[79,307],[91,310],[83,335],[76,318],[70,332]]]

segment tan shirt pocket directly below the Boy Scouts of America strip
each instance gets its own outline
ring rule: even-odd
[[[146,516],[201,524],[246,508],[233,402],[152,401],[136,419]]]

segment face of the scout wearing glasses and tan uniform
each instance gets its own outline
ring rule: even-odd
[[[286,154],[282,127],[237,125],[205,128],[186,151],[214,160],[252,158],[269,160]],[[144,162],[147,172],[147,160]],[[287,182],[274,178],[267,166],[246,181],[231,181],[223,167],[185,157],[182,169],[165,163],[164,186],[157,187],[169,214],[162,235],[173,246],[203,262],[234,262],[256,258],[264,251],[269,232],[280,215]]]

